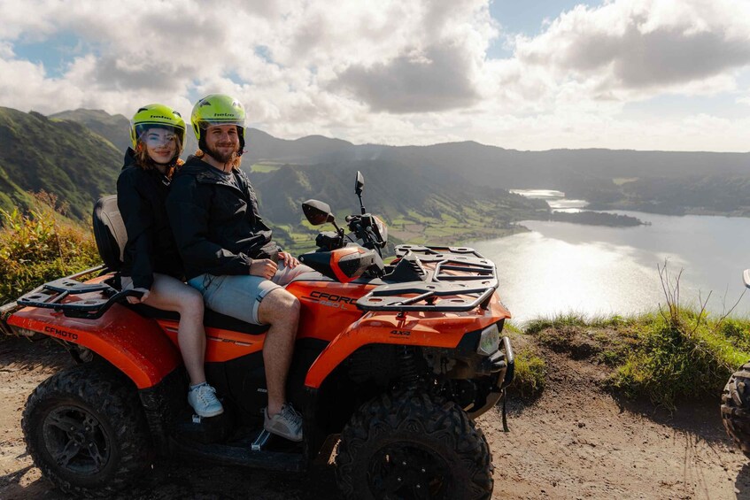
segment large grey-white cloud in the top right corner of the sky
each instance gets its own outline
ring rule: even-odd
[[[543,35],[519,37],[522,64],[549,68],[558,79],[594,83],[592,91],[627,98],[688,93],[750,64],[750,4],[731,0],[618,0],[577,6]],[[712,92],[720,88],[702,88]]]

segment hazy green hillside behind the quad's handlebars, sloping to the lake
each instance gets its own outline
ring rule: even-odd
[[[276,237],[291,251],[313,248],[316,231],[303,223],[300,205],[309,198],[330,204],[339,226],[347,214],[359,213],[355,173],[365,177],[363,203],[389,225],[392,242],[451,244],[507,235],[512,222],[547,213],[545,202],[482,188],[459,179],[445,182],[429,172],[383,161],[284,165],[269,172],[250,172],[259,193],[260,212],[276,225]],[[326,229],[331,229],[327,227]]]

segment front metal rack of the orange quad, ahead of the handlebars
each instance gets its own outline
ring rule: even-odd
[[[495,264],[474,249],[398,245],[396,257],[383,276],[388,284],[357,301],[362,311],[472,311],[486,308],[498,288]]]

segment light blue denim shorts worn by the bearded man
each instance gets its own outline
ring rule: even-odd
[[[288,285],[290,281],[313,269],[298,265],[291,269],[279,263],[279,268],[270,280],[250,274],[214,276],[201,274],[188,284],[202,295],[205,305],[215,312],[242,319],[254,325],[260,325],[258,307],[263,297],[276,288]]]

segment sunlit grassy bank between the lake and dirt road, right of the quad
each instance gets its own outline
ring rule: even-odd
[[[750,359],[750,321],[714,318],[669,302],[638,317],[536,319],[525,329],[539,345],[611,370],[606,386],[674,409],[718,397],[731,373]]]

